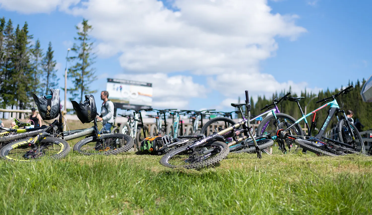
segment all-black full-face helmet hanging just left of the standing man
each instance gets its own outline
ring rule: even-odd
[[[83,103],[77,103],[76,101],[71,101],[71,103],[77,117],[82,123],[90,123],[96,118],[97,107],[93,95],[85,95],[85,101]]]

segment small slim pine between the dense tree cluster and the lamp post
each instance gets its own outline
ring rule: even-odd
[[[43,86],[45,94],[49,94],[49,89],[57,88],[58,81],[60,80],[57,78],[57,70],[55,69],[57,61],[53,60],[53,53],[52,43],[49,42],[48,51],[45,53],[45,57],[42,60],[42,74],[44,76]]]

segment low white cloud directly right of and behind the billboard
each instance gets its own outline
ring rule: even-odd
[[[155,108],[186,108],[190,98],[206,97],[205,87],[194,83],[191,76],[169,77],[164,73],[147,73],[116,75],[116,78],[153,83],[153,107]]]

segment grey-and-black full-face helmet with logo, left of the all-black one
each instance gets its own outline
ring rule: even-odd
[[[43,120],[52,120],[60,114],[60,90],[50,89],[52,92],[49,95],[44,95],[38,98],[35,94],[32,94],[33,100],[38,106],[39,114]]]

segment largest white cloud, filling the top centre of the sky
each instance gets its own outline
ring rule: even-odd
[[[270,13],[266,0],[175,0],[174,12],[156,0],[83,2],[68,10],[89,19],[102,41],[98,55],[117,53],[132,72],[217,74],[257,68],[277,50],[276,36],[295,39],[306,29],[295,15]]]

